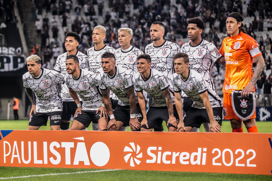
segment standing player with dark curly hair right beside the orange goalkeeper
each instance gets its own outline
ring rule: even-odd
[[[189,56],[189,68],[201,74],[207,81],[209,87],[215,91],[214,83],[210,74],[212,63],[220,63],[225,66],[225,59],[219,53],[214,44],[201,39],[201,33],[205,29],[203,20],[199,18],[190,18],[188,20],[188,37],[189,43],[184,43],[181,47],[181,52]],[[209,95],[210,96],[210,95]],[[193,104],[186,94],[182,95],[183,98],[183,111],[186,113]],[[210,132],[210,125],[208,122],[203,122],[206,132]],[[192,130],[199,132],[198,128]],[[191,131],[192,131],[191,130]]]

